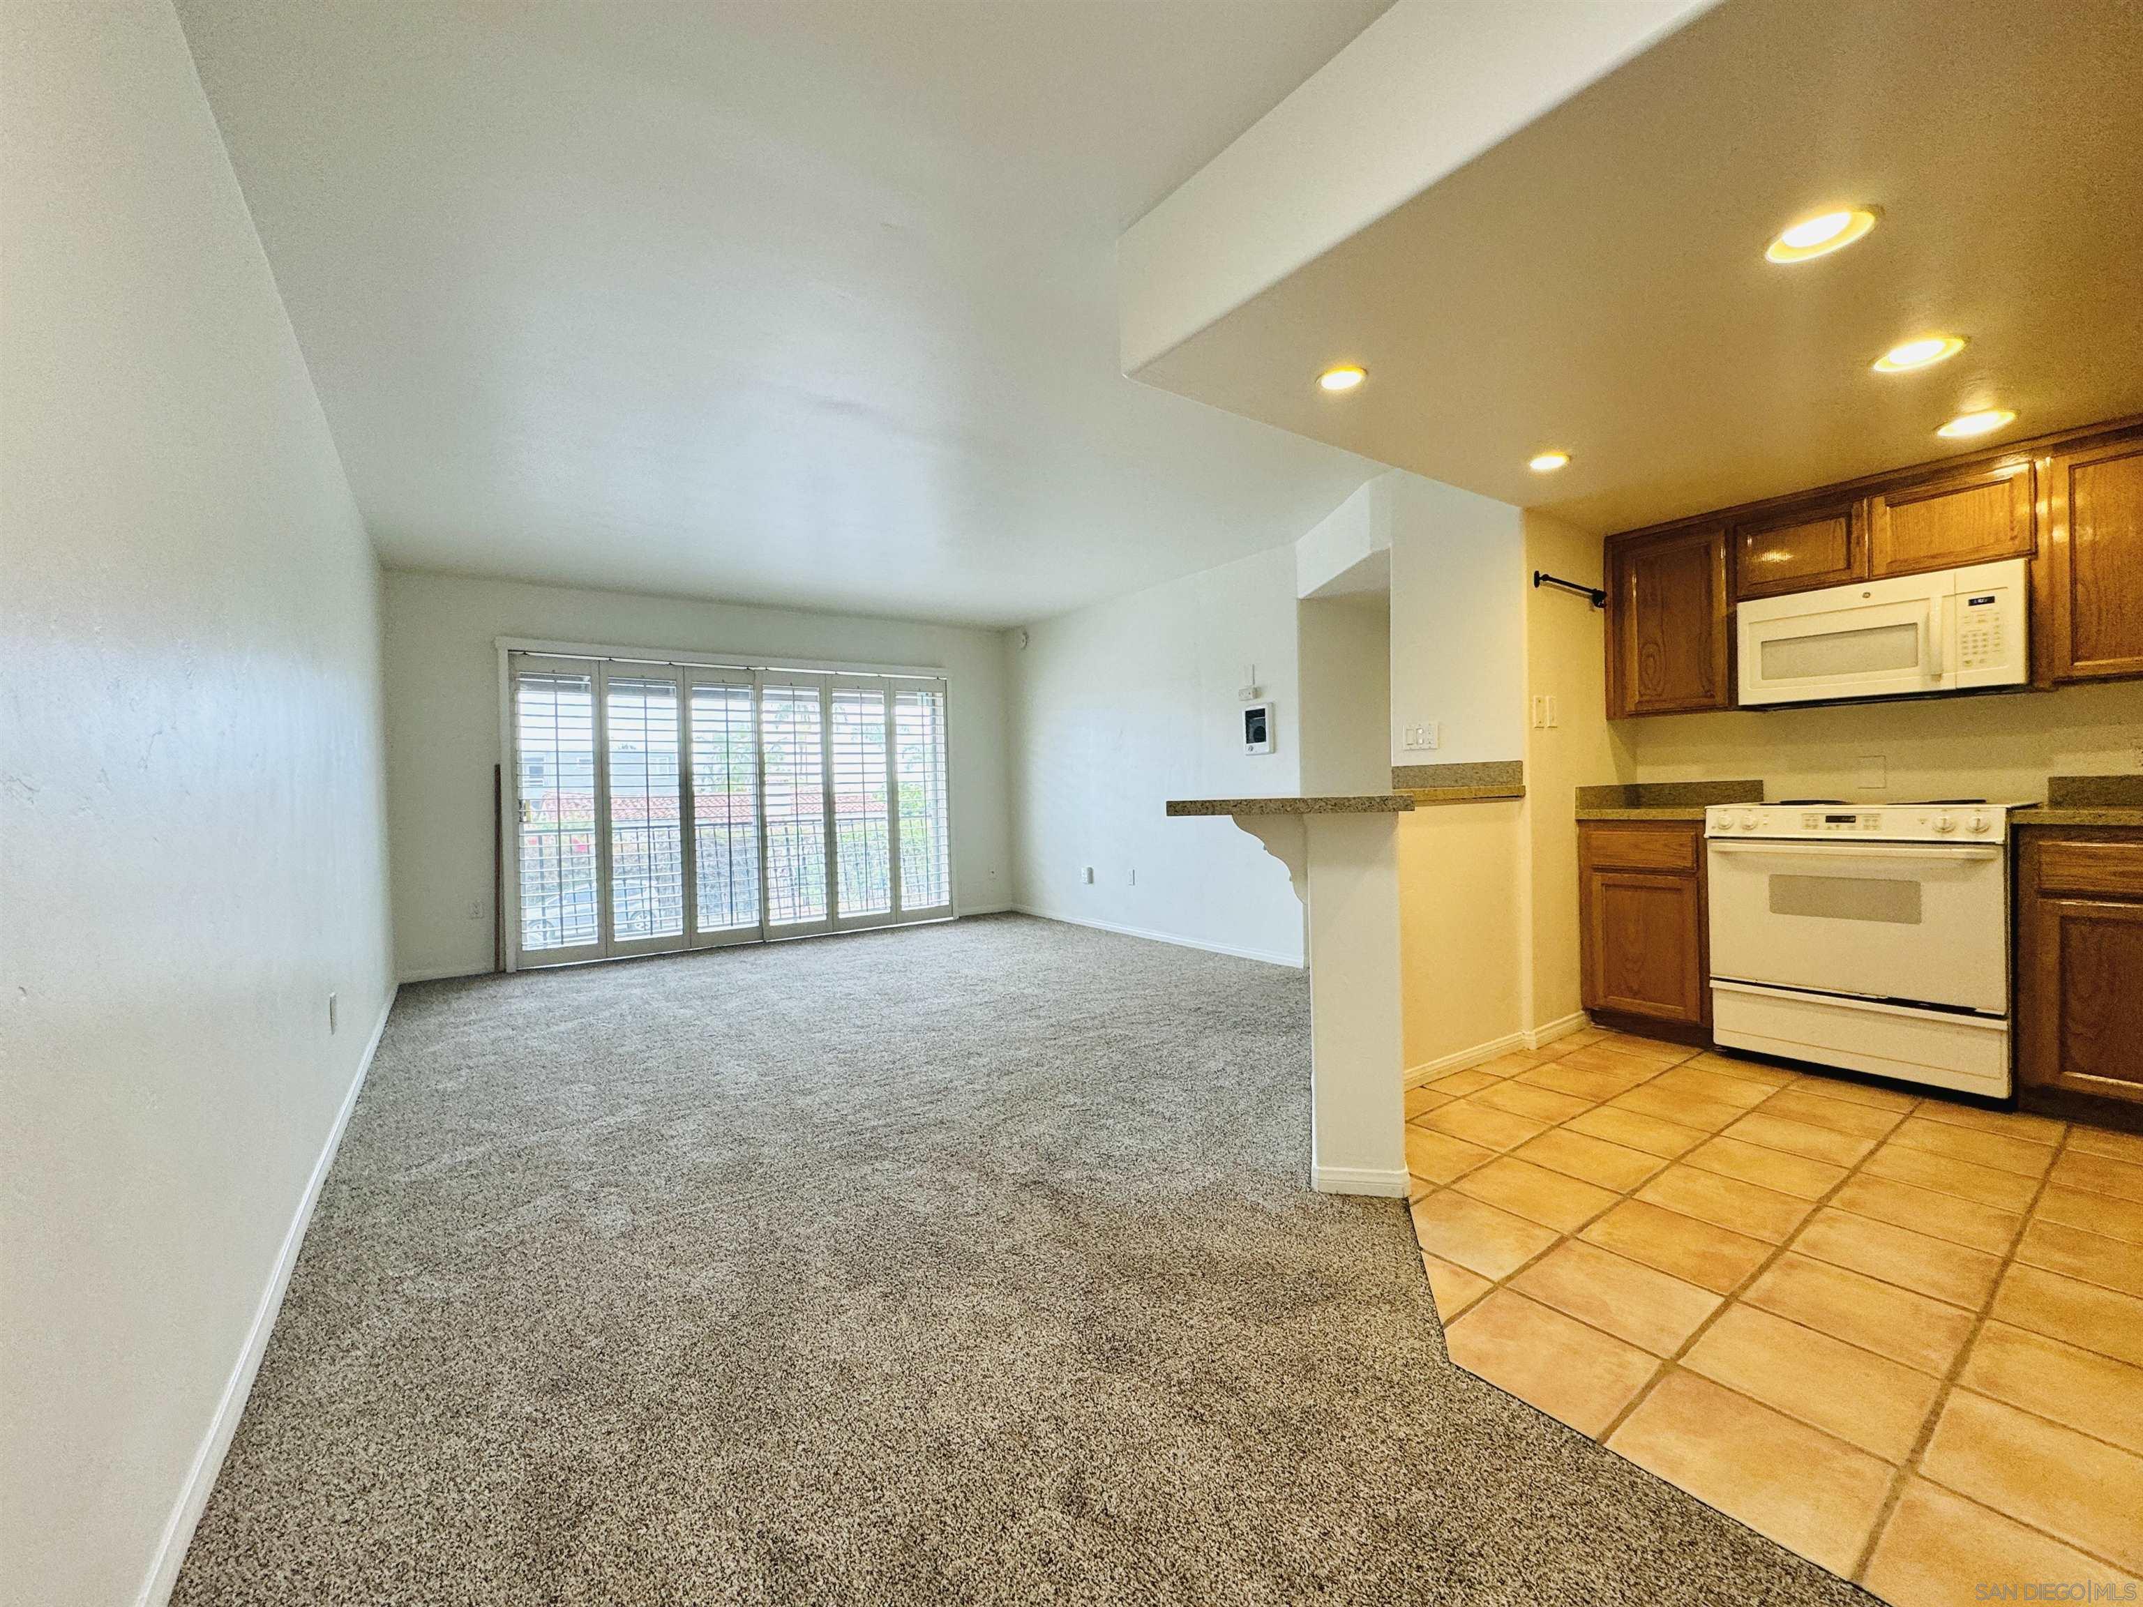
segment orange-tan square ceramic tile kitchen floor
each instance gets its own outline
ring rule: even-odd
[[[1406,1116],[1459,1367],[1899,1607],[2134,1598],[2143,1138],[1599,1028]]]

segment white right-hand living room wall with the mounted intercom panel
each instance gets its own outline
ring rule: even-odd
[[[1162,810],[1299,789],[1294,549],[1046,619],[1024,649],[1005,641],[1018,904],[1301,964],[1303,904],[1279,861],[1224,816]],[[1271,754],[1243,752],[1247,664],[1277,705]]]

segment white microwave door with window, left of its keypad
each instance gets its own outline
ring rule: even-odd
[[[1742,602],[1740,701],[1813,703],[1957,686],[1948,664],[1950,574],[1907,574]]]

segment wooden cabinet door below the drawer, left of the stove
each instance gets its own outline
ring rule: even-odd
[[[1695,876],[1586,870],[1586,1009],[1702,1024],[1704,889]]]

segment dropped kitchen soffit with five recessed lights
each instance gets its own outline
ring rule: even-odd
[[[1267,251],[1262,287],[1211,304],[1260,279],[1249,257],[1288,199],[1260,193],[1256,161],[1290,193],[1348,186],[1359,152],[1331,114],[1406,11],[1125,236],[1134,377],[1603,531],[2143,411],[2143,9],[1684,9],[1481,154],[1425,165],[1346,238],[1299,264]],[[1327,137],[1258,156],[1307,111]],[[1387,118],[1363,101],[1361,137]],[[1877,208],[1875,229],[1766,261],[1785,225],[1841,206]],[[1200,255],[1207,304],[1185,294]],[[1969,345],[1871,373],[1924,332]],[[1365,384],[1322,392],[1333,364]],[[1935,437],[1974,407],[2017,422]],[[1552,448],[1571,463],[1532,474]]]

